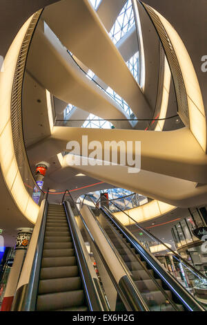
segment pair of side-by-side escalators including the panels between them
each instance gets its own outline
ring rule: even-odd
[[[40,211],[12,310],[205,311],[108,207]]]

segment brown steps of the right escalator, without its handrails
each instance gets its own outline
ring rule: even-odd
[[[135,250],[124,241],[123,235],[111,225],[110,221],[106,219],[103,212],[99,210],[98,205],[88,195],[85,196],[81,204],[89,204],[90,212],[99,223],[99,227],[103,230],[105,235],[110,240],[113,251],[119,255],[122,263],[126,266],[132,280],[141,293],[148,309],[150,311],[181,311],[182,306],[175,304],[168,290],[164,290],[161,286],[161,280],[155,279],[152,270],[148,270],[146,262],[142,261]]]

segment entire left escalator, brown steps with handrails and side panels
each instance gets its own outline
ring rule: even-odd
[[[107,311],[75,221],[63,205],[49,204],[47,198],[41,203],[11,310]]]

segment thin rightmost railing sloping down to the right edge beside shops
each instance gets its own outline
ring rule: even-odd
[[[161,241],[161,239],[158,239],[154,234],[151,234],[151,232],[148,232],[148,230],[146,230],[146,228],[144,228],[141,225],[139,225],[139,223],[137,223],[137,221],[135,221],[135,219],[133,219],[131,216],[129,216],[124,210],[122,210],[120,207],[118,207],[115,203],[112,202],[112,204],[115,205],[115,207],[117,207],[117,209],[119,209],[121,212],[123,212],[124,214],[126,214],[126,216],[128,216],[128,218],[130,218],[132,221],[134,221],[135,222],[135,225],[137,227],[139,227],[143,232],[145,232],[146,234],[148,234],[148,236],[152,237],[152,239],[155,239],[155,241],[161,243],[161,245],[164,245],[164,247],[166,247],[167,250],[170,250],[170,252],[172,252],[173,255],[175,255],[178,259],[181,259],[182,263],[184,263],[184,265],[187,268],[191,268],[193,270],[193,272],[195,272],[197,275],[199,275],[199,277],[204,278],[204,279],[207,280],[206,275],[203,275],[199,270],[197,270],[196,268],[194,268],[194,266],[192,266],[190,263],[188,263],[188,261],[186,261],[179,254],[177,254],[177,252],[175,252],[174,250],[172,250],[172,248],[168,247],[168,245],[166,245],[166,243],[164,243],[163,241]]]

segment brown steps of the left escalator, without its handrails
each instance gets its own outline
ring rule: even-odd
[[[37,310],[88,310],[63,205],[48,207]]]

